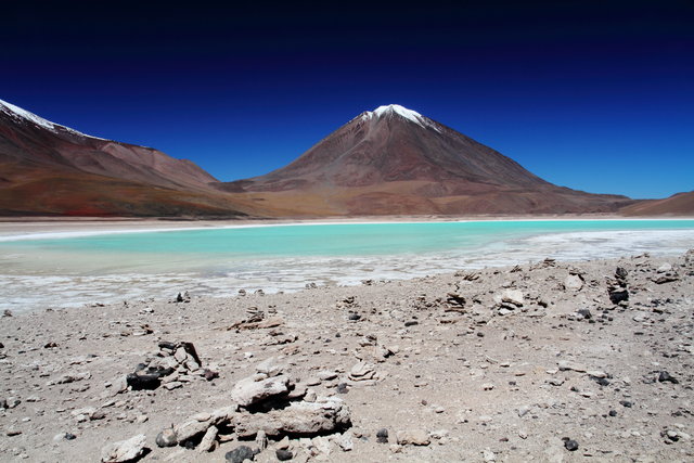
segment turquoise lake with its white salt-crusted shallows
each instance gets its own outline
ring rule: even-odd
[[[178,292],[230,296],[465,268],[676,255],[694,220],[343,223],[0,237],[0,308],[81,306]]]

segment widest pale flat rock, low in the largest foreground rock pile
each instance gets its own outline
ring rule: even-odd
[[[351,421],[342,399],[329,397],[316,402],[290,402],[267,413],[240,412],[234,415],[233,424],[240,438],[248,438],[259,430],[270,437],[322,435],[347,428]]]

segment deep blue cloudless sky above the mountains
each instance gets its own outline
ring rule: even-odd
[[[3,3],[0,99],[220,180],[398,103],[561,185],[694,190],[693,0],[141,3]]]

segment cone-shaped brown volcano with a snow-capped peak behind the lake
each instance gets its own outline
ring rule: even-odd
[[[299,216],[614,213],[631,204],[556,187],[395,104],[360,114],[285,167],[217,188]]]

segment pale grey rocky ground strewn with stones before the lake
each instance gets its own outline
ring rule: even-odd
[[[59,306],[0,320],[2,461],[694,460],[693,252]]]

